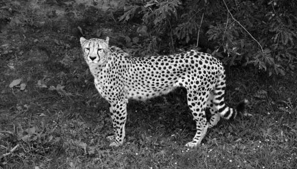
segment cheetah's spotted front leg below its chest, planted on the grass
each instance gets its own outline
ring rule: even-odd
[[[125,124],[127,119],[127,103],[127,99],[110,103],[109,110],[111,114],[114,135],[107,137],[107,139],[113,141],[109,144],[109,146],[118,147],[119,145],[123,144],[125,137]]]

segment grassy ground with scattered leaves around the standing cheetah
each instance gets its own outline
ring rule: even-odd
[[[109,147],[108,105],[82,58],[76,27],[87,37],[97,30],[101,38],[114,36],[117,45],[127,33],[94,8],[62,2],[1,2],[15,11],[1,9],[14,22],[1,20],[0,30],[0,169],[296,168],[296,70],[267,77],[227,68],[226,101],[246,97],[253,116],[221,120],[194,149],[184,146],[195,124],[182,90],[130,101],[126,141]],[[16,79],[24,89],[9,87]]]

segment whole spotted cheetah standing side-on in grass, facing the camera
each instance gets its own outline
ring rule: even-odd
[[[209,54],[191,50],[175,55],[131,57],[116,46],[109,47],[108,42],[109,37],[80,38],[96,89],[109,103],[114,129],[114,135],[107,137],[112,141],[110,146],[124,141],[128,99],[145,101],[177,87],[186,88],[197,129],[193,140],[186,144],[188,147],[200,144],[207,128],[215,126],[220,117],[234,119],[245,110],[246,99],[236,108],[225,104],[225,69]],[[211,113],[209,121],[206,107]]]

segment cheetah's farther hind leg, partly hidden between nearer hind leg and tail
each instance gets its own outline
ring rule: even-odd
[[[213,91],[209,92],[209,97],[206,103],[207,108],[209,109],[211,113],[211,118],[209,120],[209,128],[215,126],[220,121],[220,114],[218,113],[217,109],[215,108],[215,105],[213,103]]]

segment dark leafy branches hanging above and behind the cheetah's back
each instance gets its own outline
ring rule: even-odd
[[[198,36],[209,42],[200,45],[226,65],[250,65],[269,76],[296,67],[296,1],[225,1],[126,0],[119,21],[140,17],[148,34],[169,41],[171,48],[193,43],[201,31]]]

